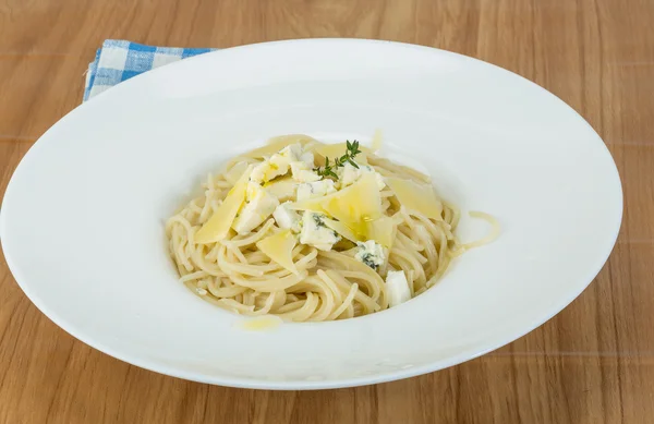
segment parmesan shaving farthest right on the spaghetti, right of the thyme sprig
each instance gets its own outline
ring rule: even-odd
[[[386,183],[407,209],[417,211],[427,218],[443,220],[443,204],[429,184],[419,184],[400,178],[387,178]]]

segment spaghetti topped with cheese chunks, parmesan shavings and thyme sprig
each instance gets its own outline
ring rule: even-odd
[[[373,148],[375,147],[373,143]],[[347,141],[271,138],[209,174],[166,225],[181,281],[202,299],[291,322],[397,306],[433,287],[470,244],[431,178]]]

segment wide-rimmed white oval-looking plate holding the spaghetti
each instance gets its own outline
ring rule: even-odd
[[[375,129],[501,237],[427,293],[342,322],[247,331],[177,281],[162,223],[207,171],[271,135]],[[427,373],[532,330],[600,271],[621,211],[602,140],[543,88],[431,48],[319,39],[203,54],[78,107],[19,166],[0,230],[22,289],[80,340],[192,380],[311,389]]]

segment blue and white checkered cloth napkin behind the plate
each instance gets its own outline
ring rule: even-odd
[[[116,84],[161,65],[215,49],[183,49],[144,46],[132,41],[108,39],[88,64],[84,101]]]

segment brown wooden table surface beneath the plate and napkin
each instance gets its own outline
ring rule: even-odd
[[[602,135],[626,201],[608,264],[547,324],[460,366],[341,390],[238,390],[119,362],[48,320],[2,259],[0,422],[653,423],[652,22],[652,0],[0,2],[0,193],[34,141],[80,104],[106,38],[227,47],[368,37],[469,54],[546,87]]]

